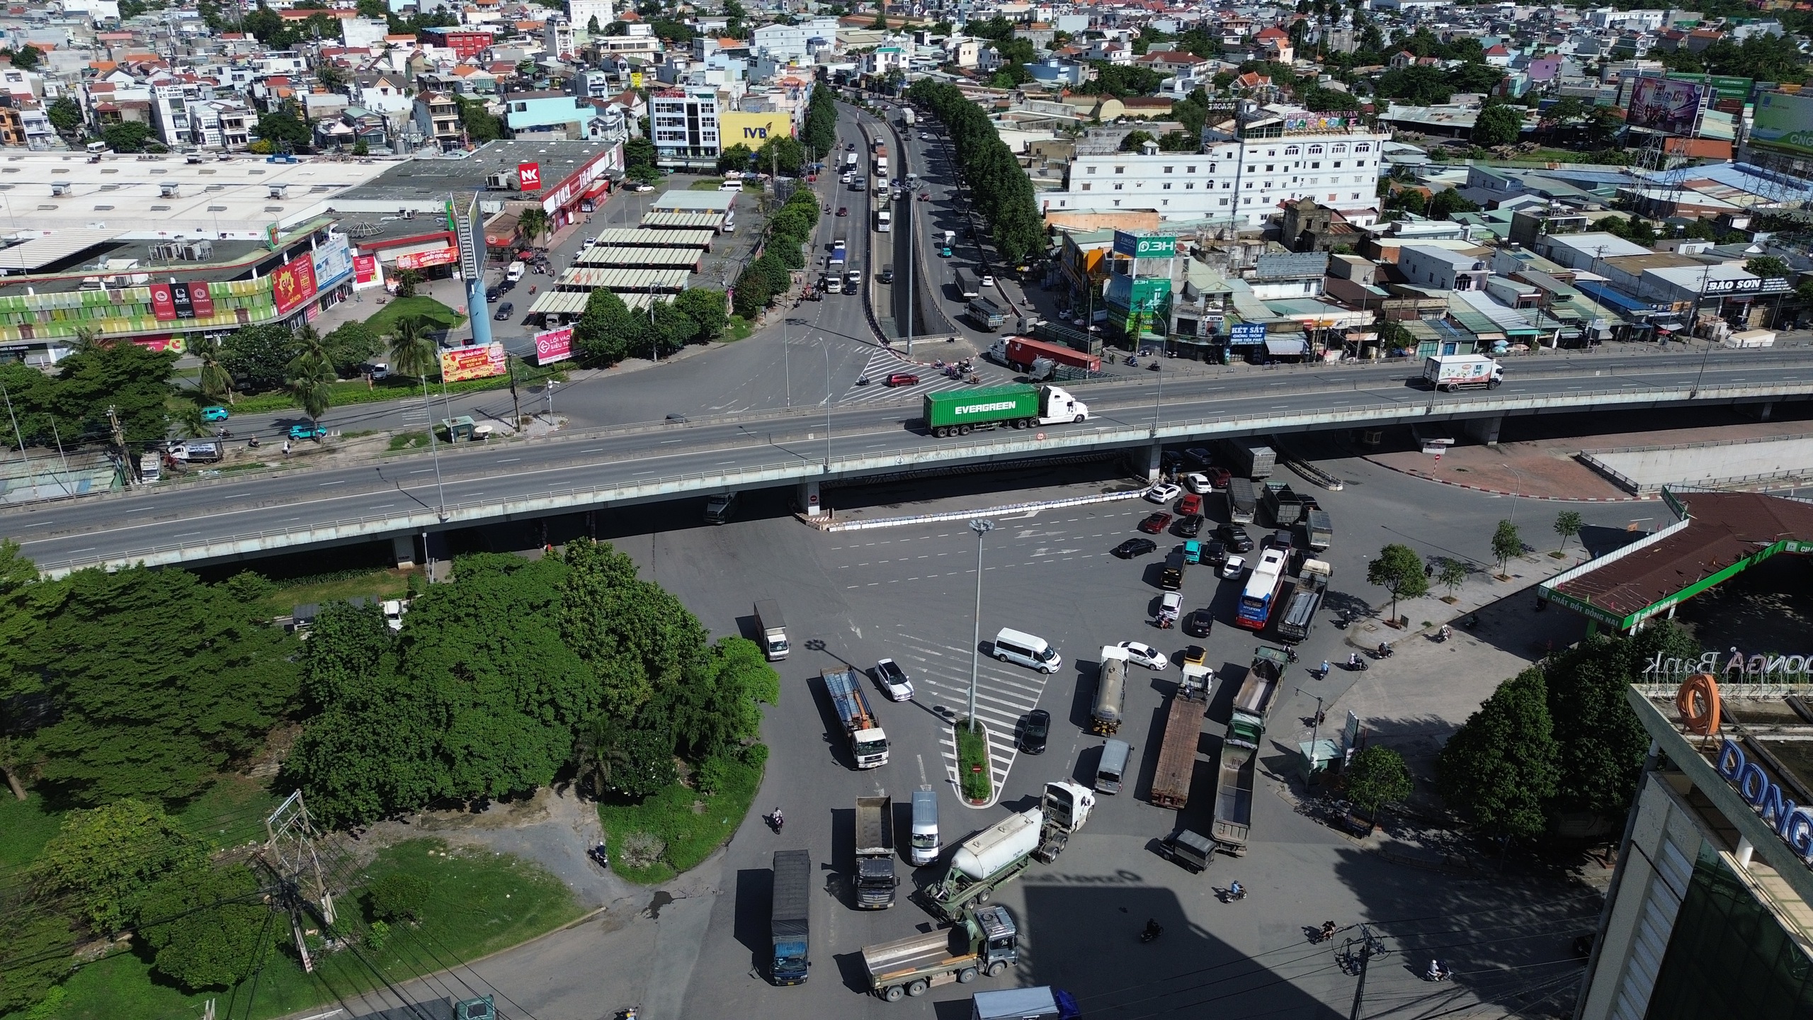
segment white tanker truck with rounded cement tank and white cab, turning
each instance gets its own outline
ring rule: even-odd
[[[1039,808],[975,833],[950,858],[945,878],[925,889],[932,913],[955,924],[965,907],[986,904],[995,889],[1019,878],[1033,860],[1050,864],[1062,853],[1070,833],[1090,820],[1095,793],[1073,782],[1044,784]]]

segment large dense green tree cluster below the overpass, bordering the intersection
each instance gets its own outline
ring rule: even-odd
[[[310,721],[283,777],[328,824],[529,791],[575,751],[600,793],[653,793],[676,753],[754,740],[756,702],[780,697],[754,644],[711,644],[609,544],[462,557],[455,577],[417,597],[397,637],[373,606],[317,617]]]

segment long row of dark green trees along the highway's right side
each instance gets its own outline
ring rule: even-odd
[[[1019,263],[1044,250],[1044,220],[1032,192],[1032,180],[1019,160],[1001,142],[983,107],[955,85],[921,78],[906,91],[912,102],[928,107],[950,132],[963,180],[994,236],[995,249],[1008,263]]]

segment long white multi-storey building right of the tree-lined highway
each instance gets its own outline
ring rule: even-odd
[[[1233,220],[1256,227],[1285,201],[1311,198],[1342,212],[1372,209],[1389,131],[1338,114],[1265,107],[1242,138],[1202,132],[1200,152],[1073,156],[1062,191],[1041,194],[1052,212],[1151,211],[1162,220]]]

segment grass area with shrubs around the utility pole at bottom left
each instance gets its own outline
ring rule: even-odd
[[[386,848],[352,880],[364,886],[399,871],[424,878],[430,893],[421,922],[392,926],[381,944],[373,946],[361,895],[337,900],[339,933],[363,942],[357,956],[321,953],[315,973],[306,975],[296,962],[288,926],[274,924],[272,949],[252,996],[250,982],[230,991],[183,995],[154,978],[136,953],[121,953],[82,967],[65,982],[67,998],[56,1020],[196,1016],[208,998],[221,1004],[250,998],[248,1016],[281,1016],[359,995],[383,980],[402,984],[455,960],[475,960],[560,927],[582,913],[573,893],[540,868],[500,853],[448,849],[439,840]]]

